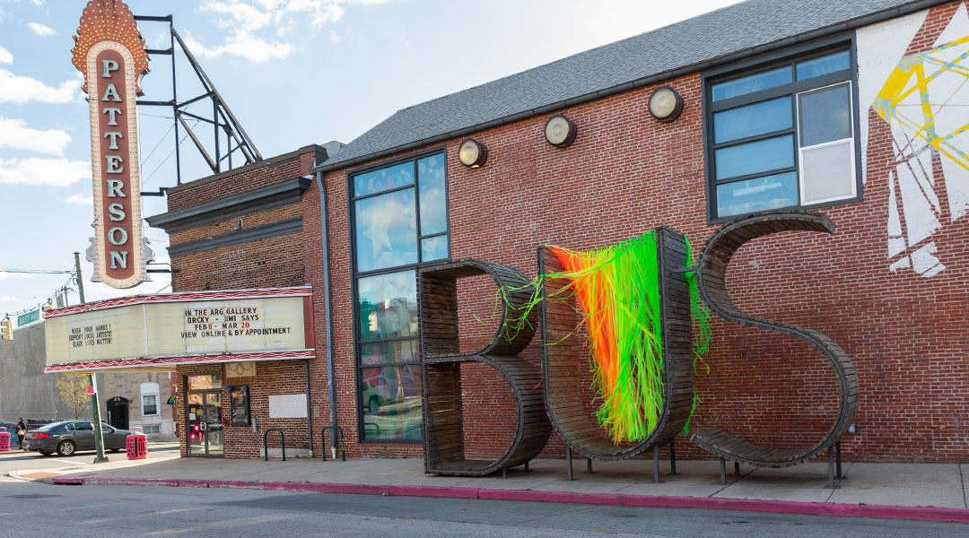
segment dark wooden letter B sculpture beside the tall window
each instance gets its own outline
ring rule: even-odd
[[[514,306],[534,292],[521,273],[495,263],[462,259],[418,270],[421,303],[423,373],[424,472],[482,476],[505,471],[538,456],[545,448],[548,423],[538,368],[517,356],[534,336],[534,320],[515,338],[506,339],[512,309],[502,304],[501,324],[490,343],[474,353],[461,353],[457,334],[457,279],[490,275],[499,288],[521,288],[506,294]],[[527,286],[527,287],[522,287]],[[497,370],[512,388],[517,410],[515,439],[497,460],[468,460],[464,455],[461,412],[461,363],[480,362]]]

